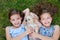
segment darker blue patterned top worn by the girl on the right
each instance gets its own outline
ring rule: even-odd
[[[54,25],[51,25],[50,28],[46,28],[44,26],[41,26],[39,29],[39,33],[43,36],[48,36],[48,37],[52,37],[54,34]]]

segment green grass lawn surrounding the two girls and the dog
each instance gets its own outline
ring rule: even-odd
[[[11,25],[8,19],[10,9],[24,10],[25,8],[33,8],[36,4],[43,0],[0,0],[0,40],[5,40],[5,28]],[[54,15],[53,24],[60,25],[60,1],[45,0],[58,7],[58,12]]]

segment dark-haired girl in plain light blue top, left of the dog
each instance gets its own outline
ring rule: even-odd
[[[23,25],[24,23],[22,23],[21,12],[15,9],[10,10],[9,20],[13,24],[13,26],[6,27],[6,39],[28,40],[28,34],[32,31],[31,27],[25,27],[25,25]]]

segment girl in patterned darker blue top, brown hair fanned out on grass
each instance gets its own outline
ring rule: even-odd
[[[42,25],[39,28],[39,34],[33,32],[31,36],[41,40],[58,40],[59,26],[51,25],[52,12],[47,9],[41,9],[40,12],[39,18]]]

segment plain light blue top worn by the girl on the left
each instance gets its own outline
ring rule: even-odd
[[[26,29],[24,28],[24,25],[21,25],[19,28],[13,29],[13,27],[10,28],[10,35],[12,38],[17,37],[18,35],[21,35],[24,33]],[[28,40],[28,35],[22,38],[22,40]]]

